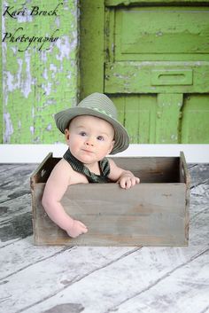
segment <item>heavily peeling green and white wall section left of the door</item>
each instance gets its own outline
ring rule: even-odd
[[[3,1],[3,143],[63,141],[53,114],[76,104],[77,10],[77,0],[42,3],[27,0],[24,6],[20,1]],[[6,33],[11,35],[4,39]],[[57,41],[41,42],[53,33]],[[17,40],[18,36],[22,43]],[[33,37],[42,39],[28,46],[29,38]]]

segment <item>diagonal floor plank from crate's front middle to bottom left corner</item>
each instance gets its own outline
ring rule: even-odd
[[[93,272],[104,269],[112,262],[126,258],[139,248],[72,248],[62,254],[52,255],[41,262],[31,264],[4,280],[0,285],[0,294],[4,294],[4,303],[8,312],[31,311],[37,304],[66,287],[74,285]],[[28,279],[28,275],[30,279]],[[55,284],[56,282],[56,284]],[[40,312],[40,310],[38,309]]]

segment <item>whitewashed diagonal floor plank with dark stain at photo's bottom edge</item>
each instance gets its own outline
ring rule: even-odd
[[[112,311],[112,307],[117,309],[120,303],[173,276],[175,270],[188,266],[204,251],[199,250],[197,253],[197,249],[192,248],[144,247],[142,251],[128,254],[117,262],[90,272],[73,284],[72,281],[66,282],[63,290],[51,293],[44,301],[36,302],[23,311],[45,312],[61,303],[79,303],[85,308],[85,313]]]

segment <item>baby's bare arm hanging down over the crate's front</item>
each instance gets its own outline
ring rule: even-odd
[[[65,230],[70,237],[75,238],[88,230],[83,223],[67,215],[60,203],[70,183],[71,174],[72,169],[66,160],[60,160],[53,168],[45,185],[42,204],[50,219]]]

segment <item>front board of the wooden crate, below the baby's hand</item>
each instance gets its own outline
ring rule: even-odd
[[[35,185],[35,244],[69,246],[184,246],[185,184],[139,184],[128,191],[117,184],[70,186],[66,212],[89,232],[70,239],[43,210],[44,184]],[[85,199],[84,198],[85,195]],[[92,195],[94,199],[92,199]]]

